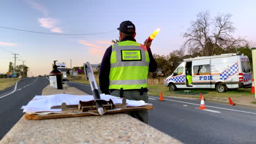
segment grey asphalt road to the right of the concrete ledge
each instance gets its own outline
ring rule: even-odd
[[[89,86],[74,82],[67,85],[91,94]],[[256,110],[208,103],[196,109],[200,100],[149,96],[154,110],[149,125],[184,143],[256,143]]]

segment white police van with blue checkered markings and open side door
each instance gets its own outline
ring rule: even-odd
[[[172,92],[178,88],[216,88],[226,92],[251,88],[252,71],[248,57],[237,53],[188,58],[164,80],[164,85]]]

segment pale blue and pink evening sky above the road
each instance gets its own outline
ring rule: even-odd
[[[100,63],[104,51],[118,39],[117,28],[125,20],[136,26],[136,40],[143,43],[160,28],[152,43],[152,52],[168,55],[184,43],[182,34],[196,20],[200,11],[209,10],[232,15],[234,35],[256,43],[256,1],[0,1],[0,27],[56,34],[28,33],[0,28],[0,73],[6,73],[9,62],[30,68],[28,76],[49,74],[54,60],[66,67],[83,63]],[[109,33],[104,33],[109,32]]]

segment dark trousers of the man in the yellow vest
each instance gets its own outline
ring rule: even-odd
[[[148,103],[148,93],[143,92],[143,94],[140,94],[140,90],[127,90],[124,91],[123,97],[129,100],[143,100],[145,103]],[[120,90],[115,90],[110,93],[110,95],[120,97]],[[148,124],[148,111],[128,111],[125,112],[128,115],[137,118],[139,121],[142,121],[144,123]]]

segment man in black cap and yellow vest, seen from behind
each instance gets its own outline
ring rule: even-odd
[[[135,40],[135,25],[124,21],[118,28],[120,42],[108,47],[100,67],[100,89],[102,93],[130,100],[144,100],[148,103],[148,71],[157,69],[150,50],[151,42],[145,41],[145,47]],[[148,111],[126,112],[148,123]]]

